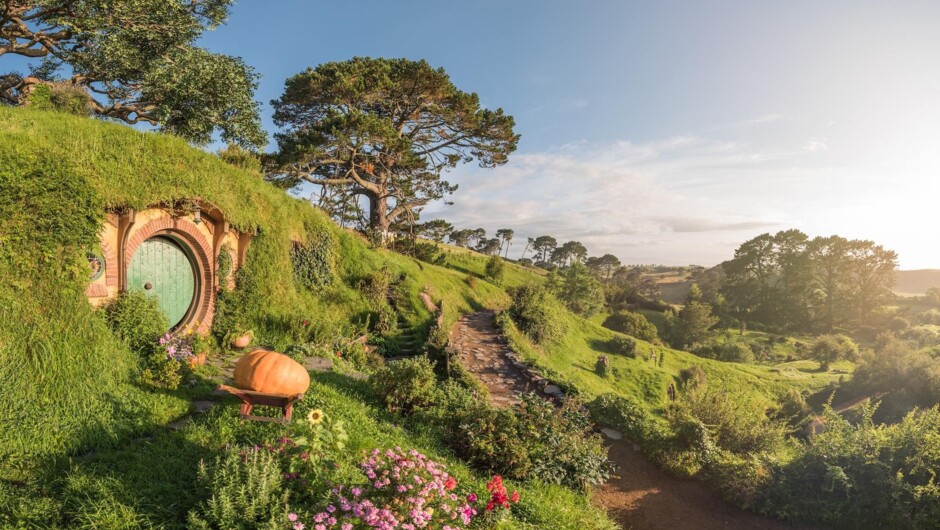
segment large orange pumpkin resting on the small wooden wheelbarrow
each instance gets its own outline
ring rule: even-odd
[[[235,386],[266,394],[293,396],[310,387],[310,374],[297,361],[286,355],[255,350],[235,363]]]

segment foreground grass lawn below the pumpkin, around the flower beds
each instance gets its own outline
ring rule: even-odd
[[[439,433],[421,426],[403,427],[401,418],[379,408],[367,384],[337,373],[314,374],[307,395],[296,414],[302,417],[319,408],[348,426],[345,457],[331,473],[336,480],[356,476],[355,466],[364,451],[401,446],[445,462],[461,484],[483,490],[487,475],[473,472],[454,458]],[[54,475],[50,473],[55,478],[30,482],[36,490],[54,492],[52,499],[6,502],[14,505],[11,511],[20,524],[42,528],[186,528],[187,512],[201,499],[202,486],[196,477],[201,460],[212,461],[227,444],[263,444],[284,432],[276,424],[240,421],[237,411],[237,405],[229,401],[182,429],[159,430],[114,450],[75,459],[61,465]],[[510,483],[509,487],[520,490],[522,500],[500,528],[612,528],[584,495],[567,488],[537,483]],[[4,501],[0,501],[0,526],[2,508]]]

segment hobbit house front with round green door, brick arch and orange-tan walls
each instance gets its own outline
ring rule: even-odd
[[[252,234],[231,228],[209,203],[190,210],[157,206],[108,214],[99,249],[88,254],[91,303],[140,290],[157,298],[171,329],[208,332],[216,292],[233,286]]]

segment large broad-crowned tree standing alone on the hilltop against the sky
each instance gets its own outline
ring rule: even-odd
[[[288,79],[272,104],[286,129],[276,135],[272,178],[365,195],[369,226],[383,239],[397,217],[457,189],[445,171],[505,164],[519,141],[511,116],[482,108],[425,61],[321,64]]]

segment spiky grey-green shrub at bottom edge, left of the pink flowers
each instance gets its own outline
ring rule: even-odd
[[[288,496],[280,463],[259,448],[231,449],[213,466],[199,465],[208,499],[189,512],[193,530],[281,530]]]

